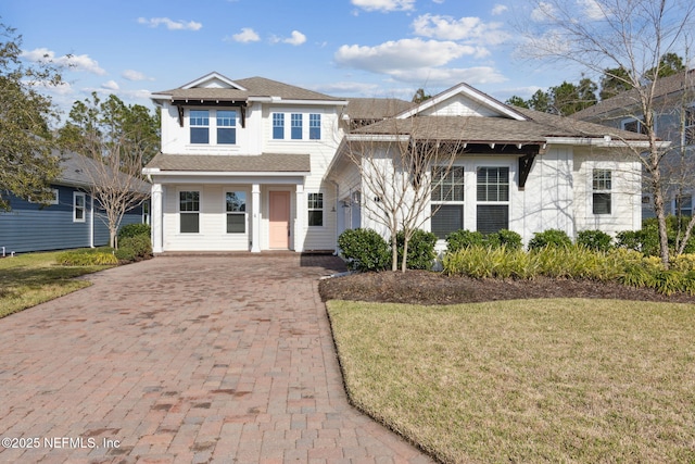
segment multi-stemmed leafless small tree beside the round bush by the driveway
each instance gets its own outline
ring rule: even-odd
[[[432,187],[463,151],[463,140],[437,136],[432,117],[389,118],[346,136],[346,155],[362,179],[363,208],[391,235],[392,271],[399,268],[396,235],[404,236],[405,272],[413,234],[437,212]]]

